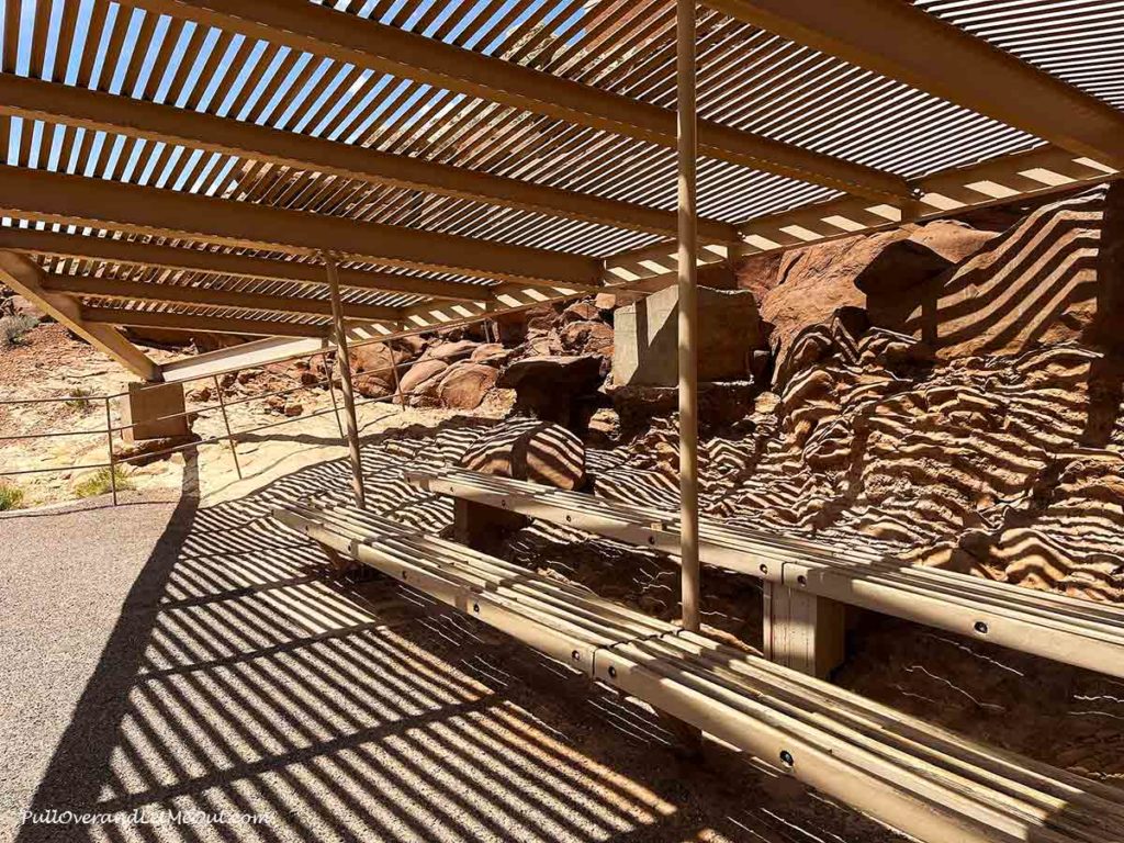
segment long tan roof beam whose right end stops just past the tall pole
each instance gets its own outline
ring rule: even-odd
[[[294,171],[422,190],[618,228],[667,235],[676,230],[674,214],[634,202],[601,199],[424,158],[393,155],[12,74],[0,75],[0,115],[143,137],[251,161],[266,161]],[[737,237],[732,225],[717,220],[700,220],[699,230],[704,237],[716,242],[731,242]]]

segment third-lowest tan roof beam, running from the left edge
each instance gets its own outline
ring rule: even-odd
[[[270,281],[298,281],[326,285],[323,268],[314,263],[273,261],[263,257],[199,248],[160,246],[112,237],[40,232],[31,228],[0,228],[0,248],[37,255],[106,261],[127,266],[154,266],[172,271],[215,272],[223,275]],[[390,272],[341,268],[339,283],[357,290],[379,290],[409,296],[427,296],[448,301],[491,301],[490,287],[456,281],[435,281]]]

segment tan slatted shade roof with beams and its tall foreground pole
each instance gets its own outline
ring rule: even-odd
[[[448,8],[7,0],[0,278],[156,381],[678,277],[690,627],[696,264],[1124,164],[1091,0]],[[119,326],[261,338],[157,365]]]

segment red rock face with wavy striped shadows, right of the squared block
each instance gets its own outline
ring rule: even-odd
[[[706,442],[709,511],[1124,599],[1124,193],[749,262],[773,375]],[[599,481],[674,474],[659,422]],[[671,500],[673,483],[659,488]]]

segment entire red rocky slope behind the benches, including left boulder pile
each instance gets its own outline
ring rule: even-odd
[[[704,327],[752,338],[710,341],[737,359],[707,368],[740,374],[700,388],[707,510],[1124,600],[1122,202],[1098,189],[1005,230],[932,223],[710,270],[754,307]],[[673,507],[674,390],[613,366],[631,301],[400,342],[407,400],[473,409],[514,388],[517,413],[601,448],[599,493]],[[393,391],[390,355],[356,350],[365,395]]]

